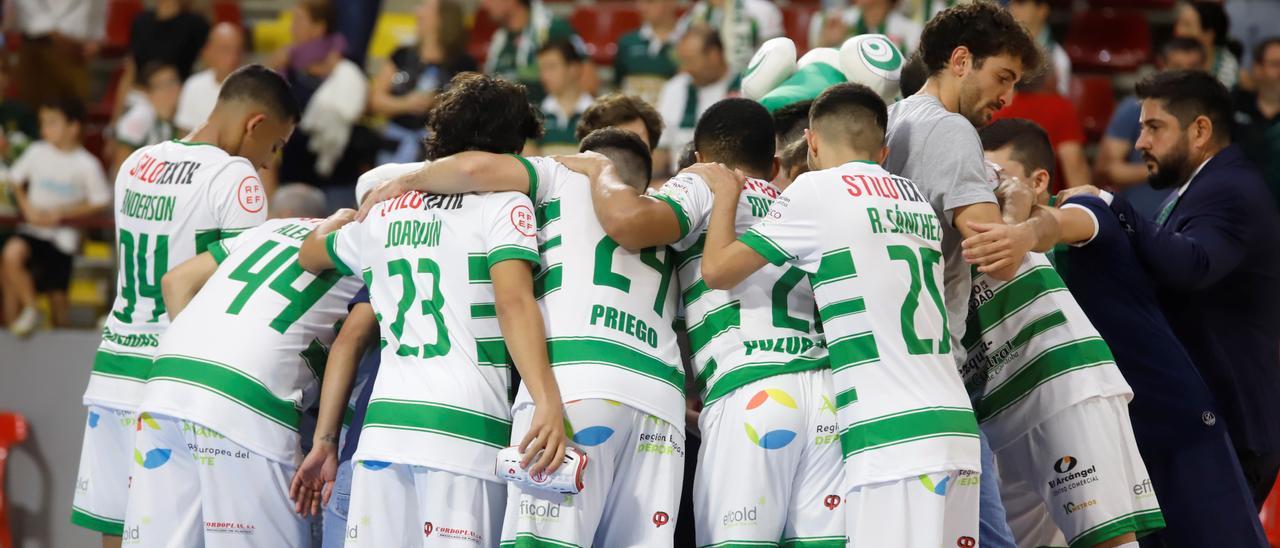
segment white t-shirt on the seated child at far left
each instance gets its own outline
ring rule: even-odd
[[[111,187],[106,184],[102,164],[84,147],[64,151],[36,141],[13,164],[9,177],[27,187],[27,205],[33,209],[70,207],[83,202],[101,206],[111,201]],[[74,254],[79,246],[79,232],[74,228],[23,223],[18,230],[52,242],[67,255]]]

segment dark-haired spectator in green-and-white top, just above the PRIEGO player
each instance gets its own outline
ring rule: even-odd
[[[591,93],[582,91],[585,55],[568,40],[554,40],[538,50],[538,77],[547,90],[540,106],[545,133],[534,141],[535,155],[576,154],[575,129],[591,106]]]

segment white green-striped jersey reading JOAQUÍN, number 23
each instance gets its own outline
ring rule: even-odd
[[[511,438],[511,366],[489,269],[538,264],[538,227],[516,192],[410,192],[329,234],[337,270],[369,286],[381,366],[355,458],[498,481]]]

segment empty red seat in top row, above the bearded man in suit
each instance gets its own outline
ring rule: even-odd
[[[1064,47],[1073,70],[1134,70],[1151,59],[1151,27],[1138,12],[1080,12],[1071,17]]]

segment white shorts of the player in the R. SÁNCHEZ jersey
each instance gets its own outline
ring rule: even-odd
[[[845,496],[851,548],[974,548],[980,475],[923,474],[852,488]]]

